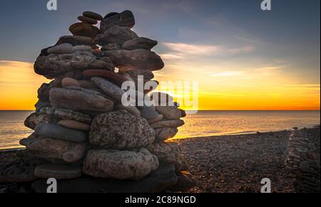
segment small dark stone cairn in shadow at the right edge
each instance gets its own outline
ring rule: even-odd
[[[285,163],[297,193],[320,192],[320,127],[315,130],[316,136],[304,129],[290,135]]]

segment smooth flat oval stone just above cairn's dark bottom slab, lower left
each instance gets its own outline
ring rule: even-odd
[[[76,179],[83,175],[81,166],[41,165],[34,171],[34,176],[40,179]]]

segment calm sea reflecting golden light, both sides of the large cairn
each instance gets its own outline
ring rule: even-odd
[[[31,129],[24,120],[31,111],[0,111],[0,149],[21,147],[19,139]],[[320,124],[320,111],[201,111],[183,119],[175,138],[270,132]]]

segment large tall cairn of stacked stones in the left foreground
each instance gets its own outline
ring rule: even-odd
[[[125,81],[137,87],[143,75],[158,84],[152,71],[164,63],[151,51],[158,42],[131,30],[131,11],[105,17],[86,11],[78,20],[69,28],[73,35],[42,50],[34,64],[37,74],[53,79],[41,85],[36,112],[25,121],[34,133],[20,142],[36,158],[6,166],[0,181],[34,181],[37,192],[46,191],[49,178],[58,180],[58,192],[188,191],[193,178],[180,147],[166,141],[185,112],[170,95],[151,90],[144,94],[162,106],[121,102]],[[165,105],[155,98],[162,96]]]

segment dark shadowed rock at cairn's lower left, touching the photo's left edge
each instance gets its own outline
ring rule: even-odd
[[[1,162],[0,183],[34,181],[36,180],[34,169],[41,164],[46,164],[46,162],[35,157],[24,157],[19,160]]]

